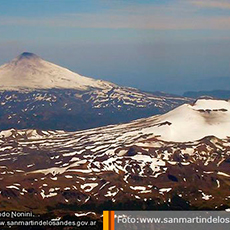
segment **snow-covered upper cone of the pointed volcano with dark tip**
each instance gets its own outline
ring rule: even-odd
[[[81,76],[41,59],[33,53],[22,53],[0,67],[0,89],[77,89],[109,88],[112,83]]]

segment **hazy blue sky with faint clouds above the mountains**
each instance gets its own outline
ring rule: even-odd
[[[208,84],[230,79],[230,2],[2,0],[0,64],[23,51],[148,91],[230,89]]]

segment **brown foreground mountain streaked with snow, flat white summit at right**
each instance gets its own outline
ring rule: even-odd
[[[229,101],[78,132],[5,130],[0,151],[0,209],[230,207]]]

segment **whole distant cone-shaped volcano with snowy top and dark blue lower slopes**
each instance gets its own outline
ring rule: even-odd
[[[164,113],[189,101],[84,77],[27,52],[0,67],[0,129],[73,131]]]

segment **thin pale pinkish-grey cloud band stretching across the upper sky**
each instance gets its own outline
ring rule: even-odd
[[[191,3],[193,7],[191,7]],[[62,14],[53,17],[26,18],[0,17],[0,26],[31,26],[88,29],[136,29],[136,30],[230,30],[230,17],[199,15],[199,4],[218,5],[224,2],[188,0],[163,6],[131,6],[111,9],[103,13]],[[196,5],[196,6],[195,6]],[[227,4],[230,7],[230,4]],[[225,5],[225,7],[227,6]],[[178,7],[177,7],[178,6]],[[214,6],[214,5],[213,5]]]

